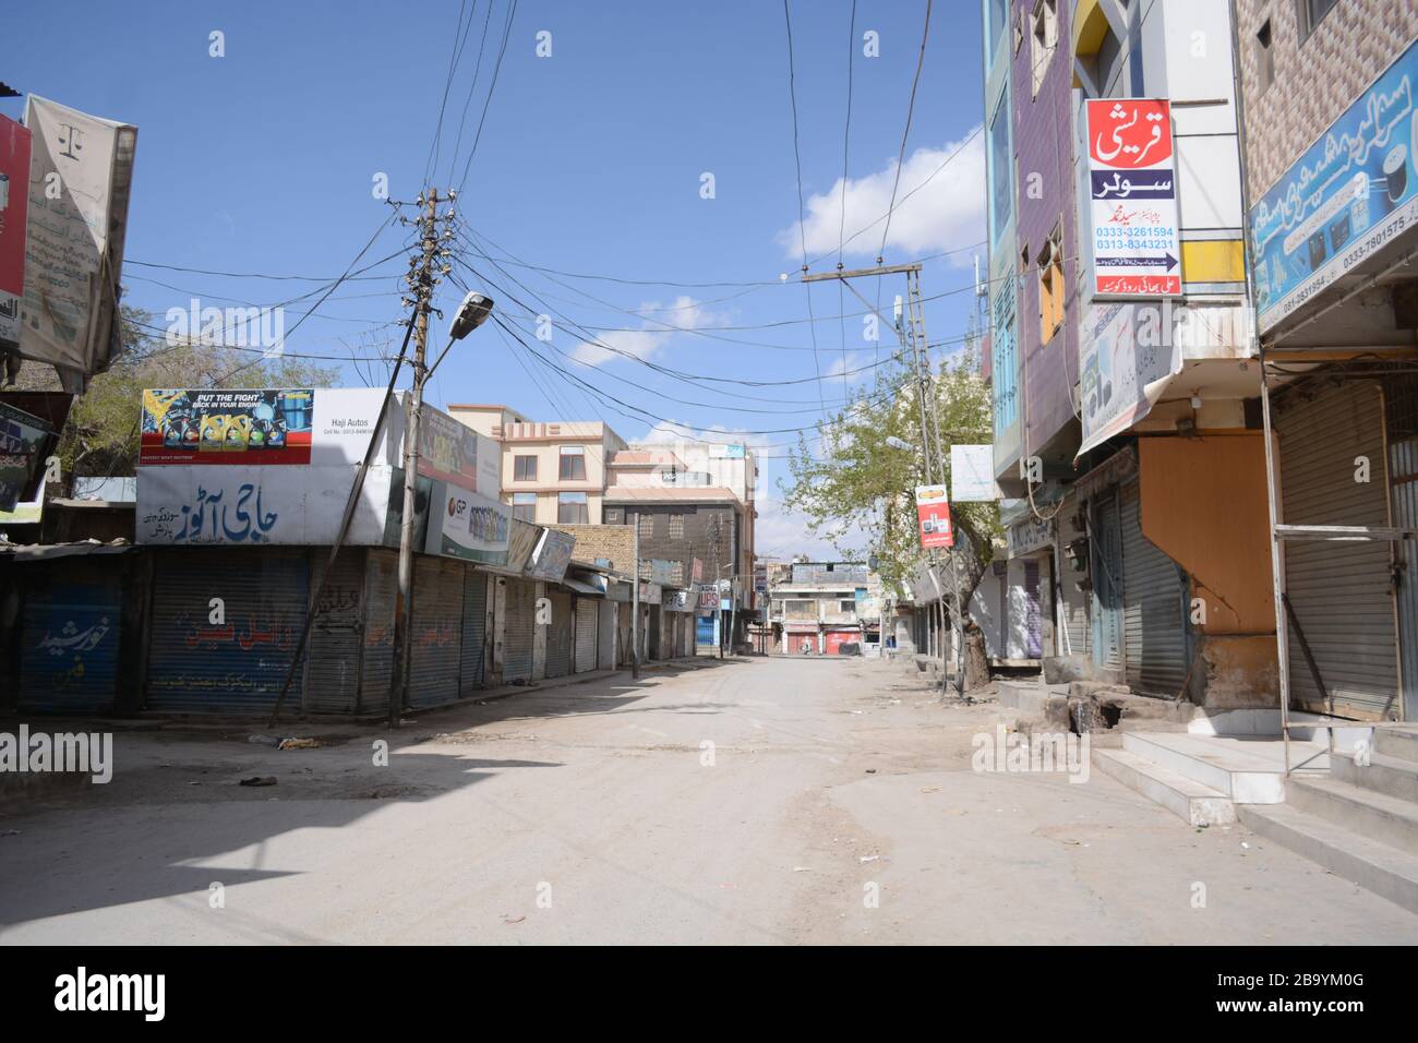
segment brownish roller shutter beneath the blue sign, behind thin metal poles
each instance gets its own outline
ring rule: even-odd
[[[1295,396],[1290,396],[1295,397]],[[1350,383],[1285,403],[1280,521],[1288,525],[1390,525],[1383,397]],[[1370,481],[1354,481],[1368,457]],[[1398,704],[1398,633],[1391,549],[1380,542],[1286,541],[1285,589],[1339,714],[1378,718]],[[1289,626],[1290,700],[1324,711],[1295,626]]]

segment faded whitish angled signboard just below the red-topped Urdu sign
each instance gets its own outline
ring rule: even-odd
[[[1083,441],[1078,456],[1144,417],[1161,397],[1167,377],[1181,372],[1181,342],[1171,328],[1170,305],[1083,308],[1078,339]]]

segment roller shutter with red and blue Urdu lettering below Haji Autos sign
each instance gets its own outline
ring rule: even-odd
[[[147,708],[160,714],[267,714],[295,654],[309,597],[303,552],[167,552],[153,578]],[[213,597],[225,623],[210,623]],[[284,708],[303,707],[296,670]]]

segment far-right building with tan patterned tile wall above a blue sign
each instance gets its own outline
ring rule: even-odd
[[[1418,7],[1236,0],[1236,53],[1282,705],[1415,721]]]

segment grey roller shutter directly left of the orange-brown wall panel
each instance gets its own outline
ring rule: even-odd
[[[1177,563],[1143,535],[1136,481],[1122,487],[1120,509],[1127,685],[1176,697],[1187,680],[1187,583]]]

